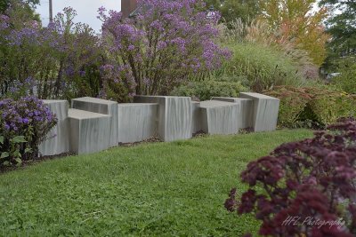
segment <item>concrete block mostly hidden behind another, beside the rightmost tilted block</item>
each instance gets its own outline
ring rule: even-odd
[[[239,129],[253,127],[254,100],[229,97],[213,97],[212,100],[220,100],[239,104]]]

